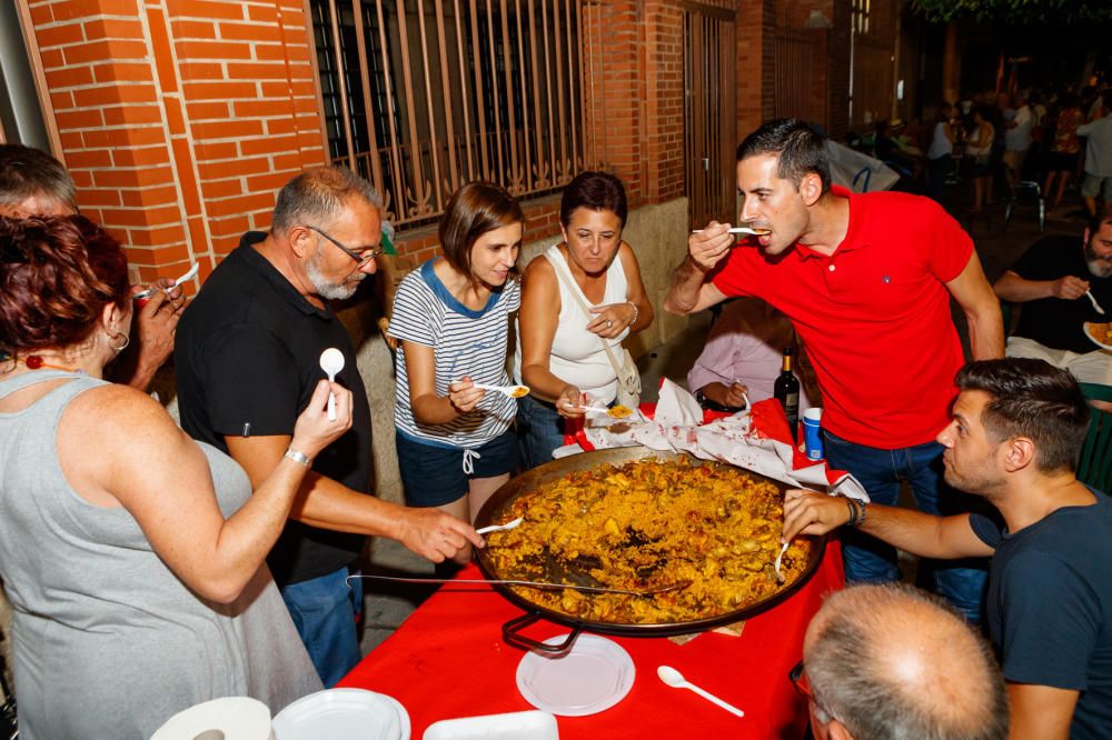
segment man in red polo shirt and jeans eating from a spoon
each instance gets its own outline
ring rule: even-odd
[[[973,241],[927,198],[853,194],[831,186],[823,139],[794,119],[765,123],[737,148],[739,220],[768,233],[738,242],[712,221],[687,242],[665,308],[692,313],[729,296],[757,296],[787,314],[823,393],[827,462],[873,501],[894,506],[906,480],[922,511],[967,500],[942,480],[953,379],[964,363],[950,297],[969,319],[973,357],[1003,357],[1000,306]],[[844,540],[846,578],[898,578],[895,551],[867,536]],[[939,592],[980,618],[983,563],[939,564]]]

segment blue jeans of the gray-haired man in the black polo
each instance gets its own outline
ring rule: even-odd
[[[294,627],[305,643],[326,689],[347,676],[363,659],[357,614],[363,611],[363,581],[340,568],[326,576],[289,583],[280,589]]]

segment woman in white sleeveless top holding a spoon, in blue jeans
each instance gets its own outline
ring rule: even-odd
[[[637,258],[622,240],[626,212],[620,180],[580,172],[560,197],[564,240],[525,270],[514,377],[532,389],[518,399],[526,468],[553,459],[564,444],[564,419],[617,398],[617,370],[603,343],[620,362],[622,340],[653,322]]]

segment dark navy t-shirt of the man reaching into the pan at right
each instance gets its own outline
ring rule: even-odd
[[[985,614],[1004,678],[1080,691],[1072,740],[1112,738],[1112,500],[1095,496],[1014,534],[970,514],[996,550]]]

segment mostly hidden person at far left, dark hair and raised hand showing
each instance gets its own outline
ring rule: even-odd
[[[0,143],[0,216],[71,216],[77,213],[77,188],[61,162],[50,154],[22,144]],[[109,366],[107,377],[139,390],[150,386],[155,373],[173,351],[173,330],[186,300],[169,278],[132,292],[155,288],[151,298],[136,312],[137,341],[131,351]],[[172,290],[170,290],[172,288]]]

